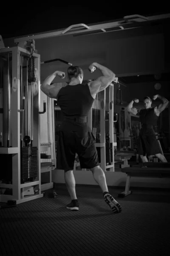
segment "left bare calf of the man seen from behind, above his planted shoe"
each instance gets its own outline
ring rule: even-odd
[[[68,192],[71,196],[71,200],[77,199],[77,196],[76,196],[76,182],[75,182],[75,179],[74,179],[73,170],[65,171],[64,178],[65,178],[66,187],[67,187]]]

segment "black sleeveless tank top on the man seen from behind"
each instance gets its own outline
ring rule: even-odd
[[[64,116],[88,116],[93,102],[88,84],[67,85],[57,96],[57,105]]]

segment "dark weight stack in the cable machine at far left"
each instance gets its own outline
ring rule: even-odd
[[[38,148],[23,147],[21,149],[21,180],[37,177]]]

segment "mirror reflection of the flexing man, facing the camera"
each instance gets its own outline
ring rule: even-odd
[[[160,99],[158,107],[152,108],[150,97],[144,97],[143,103],[145,109],[133,108],[133,102],[138,103],[139,99],[133,99],[127,106],[127,111],[133,115],[139,115],[142,128],[139,132],[137,153],[140,155],[142,162],[148,162],[146,155],[155,155],[161,162],[167,162],[166,158],[160,154],[153,127],[157,124],[160,113],[167,107],[168,100],[160,95],[153,96],[153,100]]]

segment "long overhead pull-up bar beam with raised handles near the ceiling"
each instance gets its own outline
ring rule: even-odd
[[[50,37],[55,37],[55,36],[60,36],[60,35],[71,35],[71,34],[82,34],[87,32],[92,32],[96,30],[102,30],[103,32],[111,32],[111,28],[121,28],[123,29],[133,29],[136,28],[136,24],[142,24],[145,22],[153,22],[156,20],[164,20],[170,18],[170,14],[164,14],[164,15],[156,15],[156,16],[148,16],[144,17],[141,15],[130,15],[130,16],[125,16],[123,17],[122,20],[119,21],[113,21],[113,22],[108,22],[108,23],[102,23],[102,24],[96,24],[92,26],[87,26],[84,23],[76,24],[76,25],[71,25],[67,29],[62,29],[54,32],[47,32],[43,34],[38,34],[38,35],[31,35],[31,36],[26,36],[22,38],[15,38],[14,42],[19,43],[22,41],[29,41],[29,40],[36,40],[36,39],[43,39],[43,38],[50,38]],[[131,19],[131,21],[130,21]],[[133,22],[132,22],[133,19]],[[126,21],[125,21],[126,20]],[[134,22],[137,21],[137,22]],[[131,24],[131,27],[129,27]],[[134,25],[133,25],[134,24]],[[123,26],[122,26],[123,25]],[[85,27],[86,29],[75,29],[76,27]],[[126,28],[127,26],[127,28]],[[74,28],[74,29],[73,29]],[[72,30],[71,30],[72,29]]]

